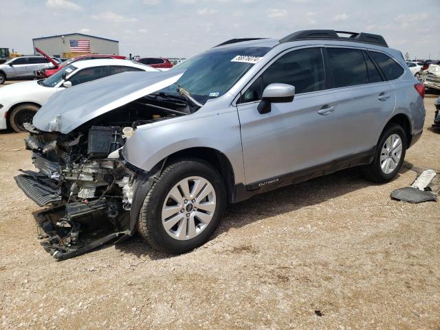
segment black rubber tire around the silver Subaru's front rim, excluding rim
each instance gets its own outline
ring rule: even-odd
[[[216,195],[214,215],[197,236],[179,241],[170,236],[162,225],[162,206],[168,192],[182,179],[199,176],[207,179]],[[168,254],[181,254],[206,243],[217,228],[226,205],[225,185],[221,175],[210,164],[200,159],[180,159],[168,165],[155,181],[144,199],[137,221],[137,231],[152,248]]]

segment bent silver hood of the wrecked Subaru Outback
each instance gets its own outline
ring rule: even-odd
[[[173,85],[184,70],[123,72],[56,93],[34,116],[34,126],[67,134],[99,115]]]

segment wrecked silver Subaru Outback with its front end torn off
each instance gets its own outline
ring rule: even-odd
[[[307,30],[233,39],[168,72],[126,72],[56,93],[27,125],[56,259],[139,232],[170,254],[214,232],[228,203],[360,166],[386,182],[425,119],[423,85],[382,36]]]

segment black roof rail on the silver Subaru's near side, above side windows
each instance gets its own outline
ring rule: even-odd
[[[348,34],[349,36],[339,36],[338,34]],[[335,30],[303,30],[297,31],[283,39],[280,39],[280,43],[288,43],[289,41],[298,40],[310,40],[310,39],[326,39],[326,40],[344,40],[344,41],[357,41],[358,43],[372,43],[374,45],[380,45],[388,47],[383,36],[379,34],[371,34],[364,32],[348,32],[348,31],[335,31]]]

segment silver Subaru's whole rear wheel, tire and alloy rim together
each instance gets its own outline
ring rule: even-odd
[[[362,168],[362,174],[366,179],[378,183],[390,181],[399,172],[405,153],[404,129],[398,124],[389,124],[377,143],[373,162]]]

